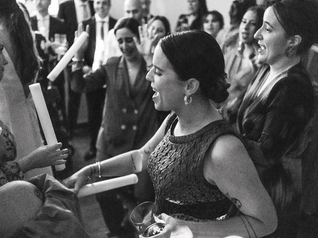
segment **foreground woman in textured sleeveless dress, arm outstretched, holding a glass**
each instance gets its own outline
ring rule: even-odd
[[[214,107],[228,97],[225,75],[222,51],[208,33],[186,31],[162,38],[146,79],[155,91],[156,109],[172,113],[141,149],[86,166],[64,184],[78,191],[95,173],[126,175],[142,164],[141,169],[148,167],[165,221],[158,237],[170,237],[179,225],[200,238],[272,233],[272,201],[242,141]],[[231,204],[240,215],[216,221]]]

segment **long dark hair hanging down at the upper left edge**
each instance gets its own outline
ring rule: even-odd
[[[10,38],[17,47],[22,62],[22,83],[30,83],[38,70],[30,26],[15,0],[0,0],[0,15],[7,18]]]

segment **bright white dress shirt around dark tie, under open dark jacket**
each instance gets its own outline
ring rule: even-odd
[[[95,71],[100,64],[103,62],[103,55],[105,51],[105,39],[107,38],[109,29],[109,16],[101,18],[97,13],[95,13],[96,22],[96,48],[94,54],[94,62],[92,65],[92,70]],[[101,37],[101,28],[103,28],[104,39]]]

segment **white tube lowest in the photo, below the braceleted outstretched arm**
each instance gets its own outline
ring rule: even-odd
[[[135,184],[137,182],[138,182],[138,177],[135,174],[126,175],[126,176],[115,178],[115,179],[108,179],[104,181],[94,182],[94,183],[82,186],[79,189],[78,197],[84,197],[84,196],[92,195],[95,193],[104,192],[104,191],[115,189],[118,187]]]

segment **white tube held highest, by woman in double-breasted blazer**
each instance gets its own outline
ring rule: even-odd
[[[74,57],[75,53],[79,50],[79,48],[84,44],[84,42],[88,38],[88,33],[86,31],[83,31],[79,38],[73,43],[73,45],[70,47],[70,49],[65,53],[63,58],[58,62],[58,64],[53,68],[53,70],[49,73],[47,78],[50,81],[54,81],[57,76],[63,71],[63,69],[68,65],[70,60]]]

